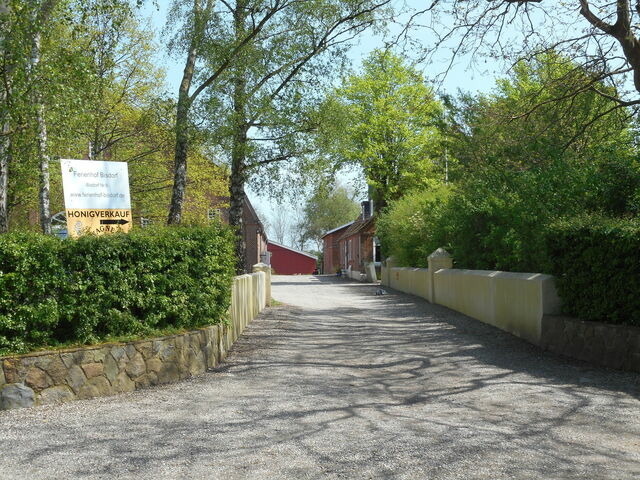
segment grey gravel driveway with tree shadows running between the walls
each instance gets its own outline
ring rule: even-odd
[[[638,375],[376,288],[275,277],[215,371],[0,412],[0,478],[640,478]]]

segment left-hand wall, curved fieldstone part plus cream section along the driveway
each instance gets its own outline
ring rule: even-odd
[[[130,392],[218,365],[267,304],[264,271],[234,279],[230,324],[181,335],[0,357],[0,410]]]

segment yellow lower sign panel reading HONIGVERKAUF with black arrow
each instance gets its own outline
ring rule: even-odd
[[[93,233],[127,233],[131,230],[131,210],[66,210],[67,232],[70,237]]]

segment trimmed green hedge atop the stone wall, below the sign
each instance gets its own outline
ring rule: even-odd
[[[221,225],[0,235],[0,355],[219,323],[234,258]]]

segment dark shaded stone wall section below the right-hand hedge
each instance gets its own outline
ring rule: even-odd
[[[640,328],[546,315],[540,346],[610,368],[640,372]]]

